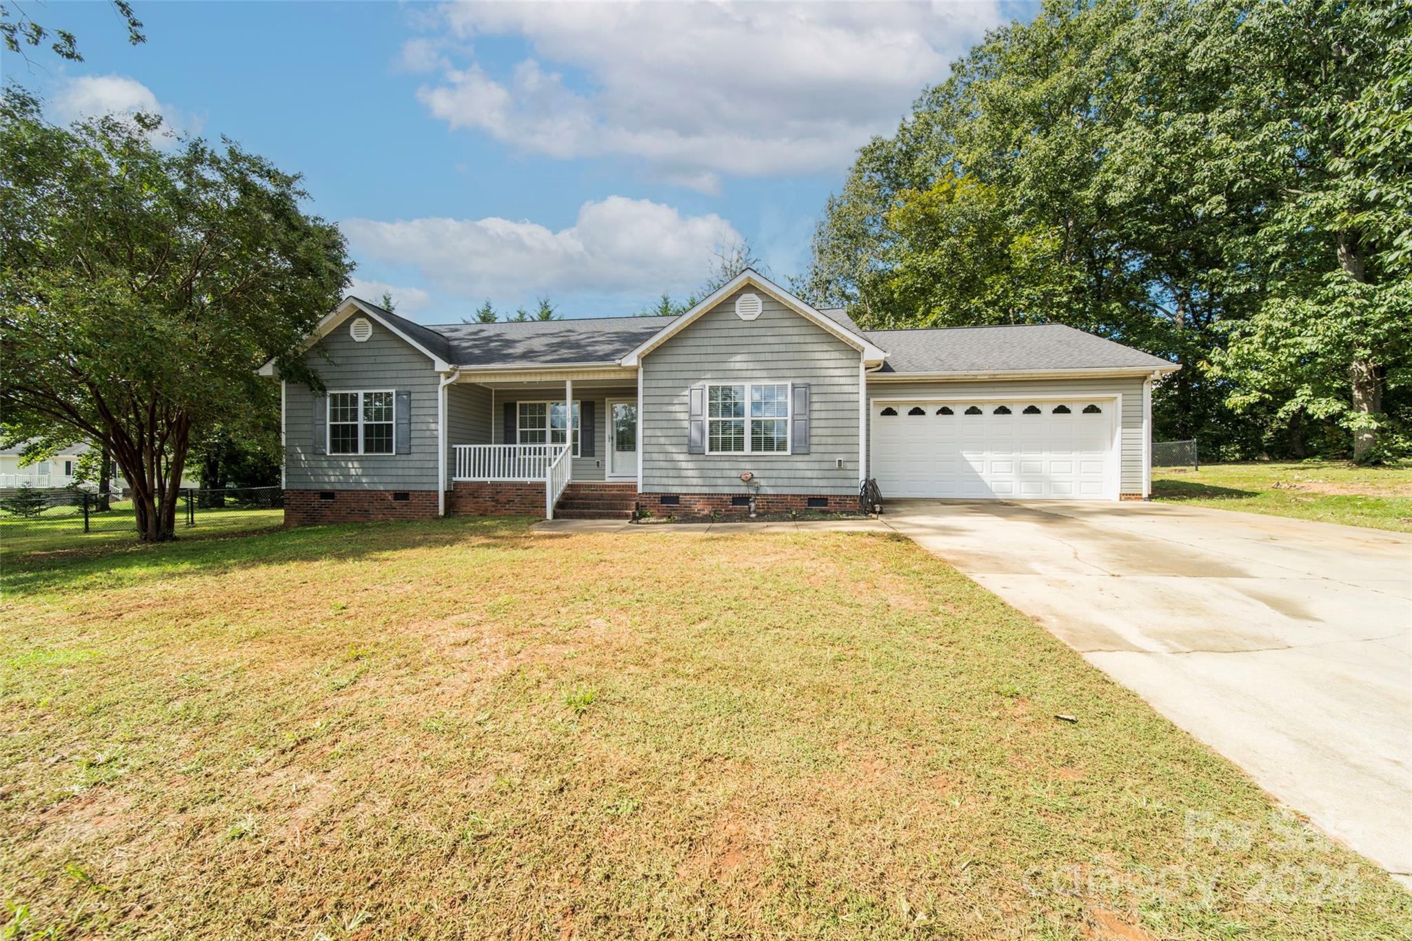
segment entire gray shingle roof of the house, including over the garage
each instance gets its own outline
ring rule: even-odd
[[[422,326],[376,303],[407,336],[462,367],[613,363],[675,317],[597,317]],[[842,308],[819,313],[887,351],[880,372],[1024,372],[1161,368],[1172,363],[1059,323],[863,330]]]

